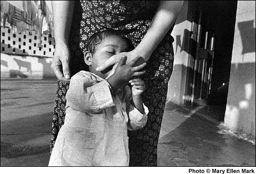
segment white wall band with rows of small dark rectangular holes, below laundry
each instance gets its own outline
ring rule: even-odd
[[[28,31],[18,33],[11,28],[1,27],[1,52],[5,54],[53,57],[54,38],[51,34]]]

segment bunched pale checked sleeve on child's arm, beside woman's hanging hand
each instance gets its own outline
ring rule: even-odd
[[[72,76],[66,100],[72,109],[90,113],[115,105],[106,81],[98,82],[82,73]]]

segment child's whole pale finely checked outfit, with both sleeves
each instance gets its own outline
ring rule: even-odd
[[[130,88],[113,95],[106,80],[80,71],[71,78],[66,100],[49,166],[128,166],[127,129],[142,128],[149,112],[131,104]]]

